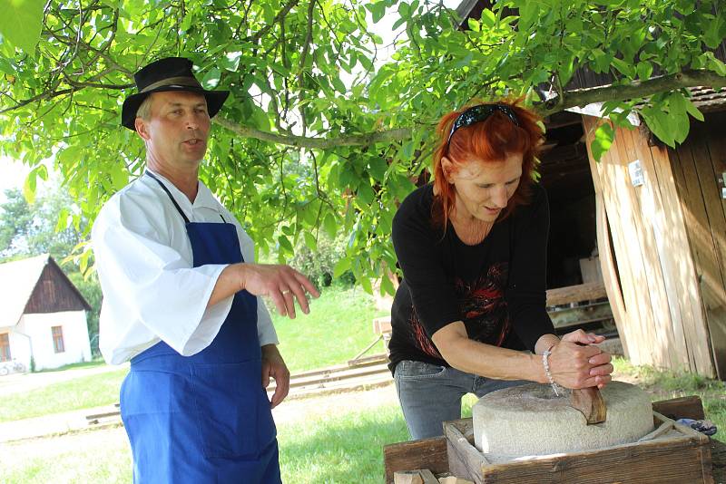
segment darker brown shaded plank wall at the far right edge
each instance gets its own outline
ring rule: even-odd
[[[726,379],[726,200],[721,198],[726,172],[724,126],[726,112],[709,113],[705,122],[692,122],[681,146],[668,150],[721,380]]]

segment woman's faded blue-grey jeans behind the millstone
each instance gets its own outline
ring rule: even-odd
[[[488,392],[530,383],[484,378],[411,360],[396,365],[394,382],[408,432],[414,440],[443,435],[442,422],[461,418],[461,397],[466,393],[481,398]]]

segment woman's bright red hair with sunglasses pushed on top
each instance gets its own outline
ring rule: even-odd
[[[506,204],[505,210],[499,220],[507,218],[519,205],[524,205],[529,199],[532,184],[536,173],[536,155],[544,141],[542,119],[533,111],[519,105],[521,99],[514,101],[503,100],[499,102],[486,102],[486,104],[500,104],[514,111],[519,126],[516,126],[503,112],[493,111],[485,121],[475,122],[469,126],[459,128],[448,140],[451,126],[456,118],[471,106],[459,111],[445,114],[438,121],[437,133],[440,143],[434,152],[434,192],[436,197],[431,208],[432,221],[435,226],[446,229],[446,224],[454,210],[456,189],[446,181],[441,159],[446,157],[454,165],[454,169],[461,168],[471,160],[485,162],[503,161],[508,155],[522,155],[522,179],[512,198]]]

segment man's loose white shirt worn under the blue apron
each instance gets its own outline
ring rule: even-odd
[[[254,262],[254,244],[240,223],[199,182],[191,203],[154,173],[191,222],[237,227],[242,257]],[[184,220],[159,183],[142,176],[113,195],[93,223],[92,245],[103,289],[99,346],[108,363],[118,364],[157,344],[184,356],[211,344],[230,312],[232,297],[206,308],[226,264],[192,267]],[[258,297],[260,345],[277,344],[270,313]]]

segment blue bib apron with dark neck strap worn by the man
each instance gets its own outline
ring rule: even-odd
[[[186,222],[194,266],[243,262],[234,225]],[[221,217],[221,216],[220,216]],[[234,295],[211,344],[182,356],[163,342],[132,358],[121,415],[135,483],[279,483],[270,401],[261,383],[257,298]]]

